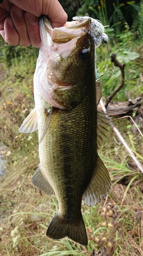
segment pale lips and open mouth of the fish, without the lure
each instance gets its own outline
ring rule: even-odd
[[[78,39],[80,36],[87,34],[87,31],[90,30],[91,21],[90,17],[81,20],[77,19],[72,22],[67,22],[64,27],[53,29],[51,27],[50,20],[45,15],[42,15],[40,17],[40,31],[44,30],[44,34],[48,32],[53,43],[63,44],[74,38]],[[44,39],[42,33],[40,33],[40,35]]]

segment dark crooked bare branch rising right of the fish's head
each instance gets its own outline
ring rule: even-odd
[[[113,92],[111,93],[111,95],[107,96],[106,102],[105,102],[105,108],[106,108],[106,109],[107,109],[107,105],[108,105],[109,102],[112,100],[113,96],[115,96],[115,95],[120,91],[120,89],[124,86],[124,81],[125,81],[125,73],[124,73],[125,63],[122,65],[122,64],[116,59],[116,55],[115,55],[115,54],[112,54],[112,55],[111,55],[111,61],[114,63],[114,65],[115,65],[116,67],[119,67],[119,68],[120,68],[122,79],[121,79],[121,82],[120,82],[119,86],[115,89],[115,91],[113,91]]]

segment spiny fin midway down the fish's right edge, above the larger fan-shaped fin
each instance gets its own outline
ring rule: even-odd
[[[97,112],[97,148],[101,146],[103,139],[106,137],[105,133],[108,131],[106,127],[109,126],[106,114]]]

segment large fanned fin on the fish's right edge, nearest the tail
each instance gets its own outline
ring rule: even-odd
[[[84,203],[94,206],[104,199],[110,190],[110,176],[100,157],[97,157],[93,177],[83,195]]]

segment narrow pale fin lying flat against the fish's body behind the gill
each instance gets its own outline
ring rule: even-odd
[[[50,123],[50,120],[51,120],[51,114],[52,114],[52,106],[49,110],[45,109],[46,118],[45,118],[45,122],[44,122],[44,125],[43,125],[42,133],[41,133],[40,138],[39,138],[39,143],[42,142],[43,138],[46,135],[46,132],[48,130],[49,123]]]

